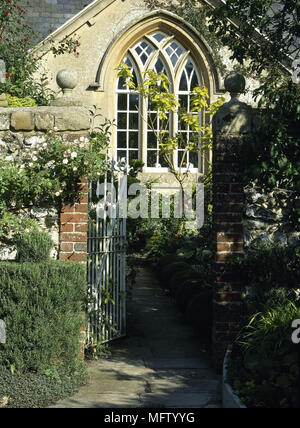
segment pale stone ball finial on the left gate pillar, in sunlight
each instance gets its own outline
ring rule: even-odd
[[[78,84],[78,75],[76,71],[64,68],[57,73],[56,83],[63,91],[63,96],[56,98],[53,106],[81,106],[82,102],[78,98],[72,97],[72,91]]]

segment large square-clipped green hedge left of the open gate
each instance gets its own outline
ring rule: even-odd
[[[75,370],[80,352],[85,268],[74,262],[0,263],[0,366],[17,372],[53,364]]]

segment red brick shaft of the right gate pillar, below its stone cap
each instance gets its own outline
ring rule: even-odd
[[[214,326],[213,352],[215,364],[223,359],[226,346],[241,327],[244,290],[228,266],[231,255],[241,255],[243,242],[244,191],[241,172],[232,143],[242,138],[218,136],[213,150],[214,194]],[[224,172],[226,171],[226,173]]]

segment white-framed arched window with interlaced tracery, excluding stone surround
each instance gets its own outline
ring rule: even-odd
[[[156,31],[144,35],[127,52],[124,62],[131,67],[136,82],[140,82],[146,70],[163,72],[170,80],[170,90],[178,97],[181,105],[190,111],[190,93],[201,85],[200,75],[192,59],[191,53],[185,49],[174,36],[162,31]],[[151,110],[146,100],[128,87],[123,86],[121,79],[117,82],[117,156],[132,159],[140,159],[145,163],[146,170],[159,169],[164,171],[162,157],[159,154],[158,142],[155,133],[150,126],[157,130],[160,128],[157,112]],[[197,113],[196,113],[197,114]],[[181,164],[185,142],[197,135],[188,127],[178,123],[176,113],[172,113],[169,120],[170,135],[179,133],[182,136],[181,146],[175,154],[175,165]],[[189,153],[187,157],[190,169],[196,171],[199,165],[198,153]],[[187,165],[181,165],[183,167]]]

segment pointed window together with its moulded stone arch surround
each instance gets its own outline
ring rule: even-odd
[[[116,119],[112,141],[114,157],[126,158],[128,161],[140,159],[149,172],[167,172],[166,165],[159,156],[157,141],[149,128],[145,100],[140,99],[129,88],[118,81],[117,67],[127,62],[132,68],[137,81],[142,79],[147,69],[164,72],[171,83],[170,89],[189,110],[190,92],[195,86],[205,85],[212,101],[220,93],[218,76],[215,71],[209,48],[191,27],[177,20],[173,15],[154,14],[127,29],[115,40],[101,61],[96,82],[109,99]],[[173,117],[174,116],[174,117]],[[189,129],[182,129],[178,118],[173,115],[170,120],[170,133],[180,132],[182,141],[191,137]],[[204,121],[205,118],[202,117]],[[156,126],[159,124],[156,121]],[[175,165],[179,167],[183,148],[178,147]],[[194,172],[205,170],[203,156],[191,153],[187,159]]]

